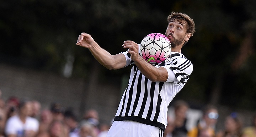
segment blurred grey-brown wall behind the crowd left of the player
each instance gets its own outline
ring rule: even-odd
[[[49,108],[52,102],[61,102],[64,108],[73,107],[80,117],[83,114],[79,112],[81,108],[94,108],[98,111],[101,122],[110,123],[120,100],[119,86],[101,84],[88,91],[87,83],[84,79],[64,78],[56,74],[0,64],[2,99],[16,96],[19,99],[37,100],[41,102],[42,108]],[[86,99],[83,106],[82,96]]]

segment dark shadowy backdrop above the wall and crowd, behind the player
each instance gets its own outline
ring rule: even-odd
[[[76,46],[81,32],[111,54],[122,43],[164,34],[172,11],[194,19],[196,32],[182,48],[193,63],[190,80],[174,100],[232,110],[256,108],[255,0],[5,0],[0,1],[0,65],[30,68],[67,79],[120,84],[130,67],[107,70],[88,49]],[[97,68],[97,69],[96,69]],[[1,88],[1,87],[0,87]]]

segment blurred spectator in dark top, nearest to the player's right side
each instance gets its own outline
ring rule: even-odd
[[[174,131],[172,132],[173,136],[186,136],[187,135],[187,128],[186,128],[186,114],[189,106],[187,102],[183,100],[178,100],[174,103]]]

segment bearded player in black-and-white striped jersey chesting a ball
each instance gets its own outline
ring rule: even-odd
[[[129,85],[124,91],[108,137],[162,136],[167,125],[167,106],[183,88],[193,71],[191,62],[181,54],[181,48],[194,33],[194,22],[183,13],[172,12],[167,18],[165,35],[172,52],[164,62],[151,65],[139,55],[139,45],[124,41],[126,52],[111,55],[91,37],[82,33],[77,45],[88,48],[108,69],[133,64]]]

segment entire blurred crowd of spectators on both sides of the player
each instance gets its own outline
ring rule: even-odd
[[[201,118],[188,129],[188,103],[178,100],[172,107],[174,115],[167,117],[164,137],[256,137],[256,114],[252,125],[244,127],[239,113],[233,112],[226,115],[224,121],[218,121],[218,108],[206,105],[201,110]],[[106,137],[111,123],[102,124],[99,119],[95,109],[87,110],[78,119],[72,108],[64,109],[59,102],[42,109],[36,100],[21,100],[15,96],[6,101],[0,98],[0,137]],[[217,121],[223,123],[223,129],[218,131]]]

